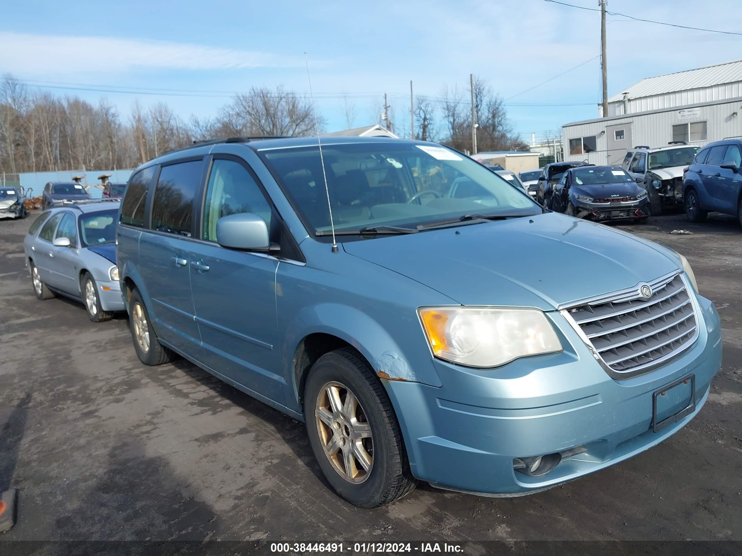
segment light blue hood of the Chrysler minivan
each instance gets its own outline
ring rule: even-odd
[[[545,311],[680,268],[660,245],[557,213],[361,239],[343,247],[462,305]]]

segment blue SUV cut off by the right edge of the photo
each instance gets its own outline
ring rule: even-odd
[[[709,212],[737,216],[742,225],[742,139],[726,139],[699,151],[683,176],[683,204],[690,222]]]

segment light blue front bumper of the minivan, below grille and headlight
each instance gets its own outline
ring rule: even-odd
[[[660,443],[700,411],[721,365],[718,313],[708,299],[698,302],[695,344],[663,367],[626,380],[608,377],[574,329],[550,313],[562,353],[495,369],[436,360],[441,388],[384,381],[413,474],[441,488],[517,496],[598,471]],[[652,394],[687,374],[695,374],[695,411],[655,433]],[[579,446],[587,451],[541,477],[513,469],[516,457]]]

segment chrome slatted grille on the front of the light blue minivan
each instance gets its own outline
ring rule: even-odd
[[[568,314],[594,354],[616,373],[634,374],[689,348],[697,321],[680,274],[651,284],[651,297],[639,288],[577,305]]]

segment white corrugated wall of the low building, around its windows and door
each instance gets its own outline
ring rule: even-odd
[[[698,117],[691,120],[680,120],[678,110],[653,114],[628,114],[625,118],[606,119],[579,125],[568,125],[562,128],[562,141],[565,149],[565,160],[588,160],[592,164],[605,164],[607,161],[607,142],[605,135],[600,135],[609,125],[620,125],[631,122],[631,142],[636,145],[649,145],[658,148],[672,141],[672,126],[683,122],[706,122],[706,140],[695,141],[694,145],[720,141],[726,137],[742,136],[742,101],[725,102],[719,105],[697,107]],[[737,116],[732,116],[736,112]],[[597,136],[595,153],[569,153],[569,139]]]

